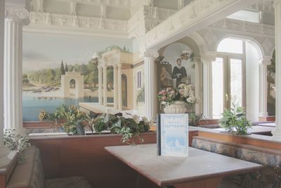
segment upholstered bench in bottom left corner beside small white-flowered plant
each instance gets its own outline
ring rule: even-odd
[[[25,150],[27,161],[17,164],[7,188],[91,188],[84,177],[66,177],[45,180],[39,149]]]

